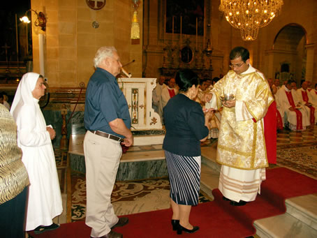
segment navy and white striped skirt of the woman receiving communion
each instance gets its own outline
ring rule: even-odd
[[[177,204],[197,205],[200,189],[201,156],[179,156],[165,151],[170,198]]]

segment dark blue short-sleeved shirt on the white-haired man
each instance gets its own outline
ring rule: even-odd
[[[84,127],[89,131],[103,131],[124,137],[112,131],[109,122],[122,119],[128,129],[131,128],[131,117],[128,103],[119,89],[117,79],[103,68],[96,68],[91,75],[84,105]]]

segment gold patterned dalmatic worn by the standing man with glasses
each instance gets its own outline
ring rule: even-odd
[[[251,114],[254,119],[237,120],[235,107],[223,107],[216,161],[244,170],[267,167],[263,117],[274,101],[267,81],[258,72],[237,75],[230,70],[212,91],[218,107],[221,96],[233,94],[236,101],[244,101],[242,110],[249,112],[242,112],[242,117]]]

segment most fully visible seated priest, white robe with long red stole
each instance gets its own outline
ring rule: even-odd
[[[295,87],[295,81],[288,80],[286,85],[277,91],[275,99],[277,107],[281,107],[284,112],[284,124],[288,124],[288,128],[292,131],[304,131],[306,126],[310,125],[308,112],[300,105],[296,91],[293,90]]]

